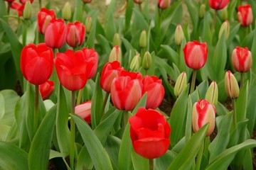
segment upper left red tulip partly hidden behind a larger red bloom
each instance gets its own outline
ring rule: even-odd
[[[41,34],[46,32],[46,27],[52,20],[55,20],[55,11],[41,8],[41,11],[39,11],[37,15],[38,30]]]

